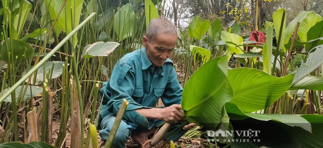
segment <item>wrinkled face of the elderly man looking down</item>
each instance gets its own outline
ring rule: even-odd
[[[173,54],[176,43],[176,34],[158,34],[154,40],[143,37],[143,46],[146,48],[149,60],[155,66],[162,66],[165,63],[166,59]]]

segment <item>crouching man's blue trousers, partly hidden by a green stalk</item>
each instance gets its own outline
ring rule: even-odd
[[[108,139],[108,136],[111,132],[111,128],[113,126],[115,120],[115,116],[113,114],[109,114],[102,118],[101,124],[100,124],[100,131],[99,135],[102,139],[102,141],[106,141]],[[155,123],[153,127],[157,127],[163,123],[161,120],[155,120]],[[174,129],[176,126],[171,126],[170,129]],[[112,148],[126,148],[125,144],[127,143],[128,139],[131,136],[131,132],[133,130],[139,129],[138,125],[134,123],[129,123],[125,120],[122,120],[120,123],[120,126],[118,128],[118,131],[114,137]],[[175,136],[172,136],[172,141],[177,141],[182,135],[185,134],[187,130],[181,130],[181,132],[177,133]],[[167,139],[167,138],[166,138]],[[168,140],[168,139],[167,139]]]

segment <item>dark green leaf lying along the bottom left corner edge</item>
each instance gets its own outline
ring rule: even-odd
[[[44,142],[31,142],[29,144],[21,144],[20,142],[12,142],[0,144],[0,148],[55,148]]]

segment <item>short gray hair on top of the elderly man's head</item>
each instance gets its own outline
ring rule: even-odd
[[[160,17],[151,20],[145,36],[150,40],[154,40],[159,33],[176,34],[177,36],[177,28],[173,22],[166,18]]]

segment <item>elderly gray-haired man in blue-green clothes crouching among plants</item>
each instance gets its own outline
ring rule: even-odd
[[[106,140],[123,99],[129,105],[113,141],[113,148],[125,148],[131,137],[143,145],[161,122],[185,119],[181,110],[182,87],[169,57],[177,43],[175,25],[164,18],[150,22],[143,37],[144,49],[122,57],[113,68],[110,80],[100,90],[103,103],[99,134]],[[155,108],[161,98],[164,108]],[[193,127],[190,124],[184,129]]]

